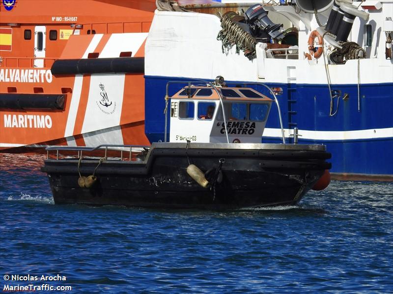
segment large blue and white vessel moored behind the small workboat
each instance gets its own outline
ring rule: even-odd
[[[168,5],[158,5],[145,45],[151,142],[164,141],[169,80],[223,75],[228,85],[275,89],[286,141],[298,128],[299,143],[326,145],[336,178],[393,180],[393,0],[158,2]],[[280,140],[280,125],[268,122],[262,143]]]

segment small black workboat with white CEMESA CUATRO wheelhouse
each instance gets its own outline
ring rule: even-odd
[[[261,144],[273,101],[252,88],[189,84],[167,96],[169,142],[49,147],[41,170],[48,173],[56,204],[197,209],[295,204],[310,189],[329,184],[331,155],[325,146],[285,144],[284,137],[283,144]],[[99,150],[105,152],[101,158],[88,157]],[[108,157],[110,151],[117,157]]]

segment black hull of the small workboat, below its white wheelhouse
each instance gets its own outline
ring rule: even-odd
[[[152,147],[144,162],[104,161],[90,189],[78,186],[78,160],[46,160],[42,171],[56,204],[236,209],[297,203],[330,168],[325,151],[188,149],[190,162],[203,172],[225,159],[221,183],[205,189],[186,172],[185,150]],[[97,165],[98,160],[82,160],[82,175]]]

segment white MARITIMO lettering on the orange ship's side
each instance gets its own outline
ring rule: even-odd
[[[4,114],[4,127],[51,128],[52,118],[49,115]]]

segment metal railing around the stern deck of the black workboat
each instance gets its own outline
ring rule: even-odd
[[[51,159],[50,152],[56,151],[56,160],[62,158],[75,158],[77,159],[82,158],[85,156],[86,158],[88,155],[95,155],[91,157],[98,157],[97,154],[101,154],[108,158],[109,155],[112,155],[113,158],[120,158],[119,160],[128,160],[132,161],[136,155],[141,154],[142,152],[147,151],[150,148],[149,145],[115,145],[115,144],[102,144],[96,147],[69,147],[69,146],[51,146],[46,147],[45,150],[47,151],[47,159]],[[76,151],[76,153],[75,153]],[[103,154],[102,154],[103,153]],[[128,156],[123,156],[127,154]],[[115,156],[119,155],[119,156]]]

